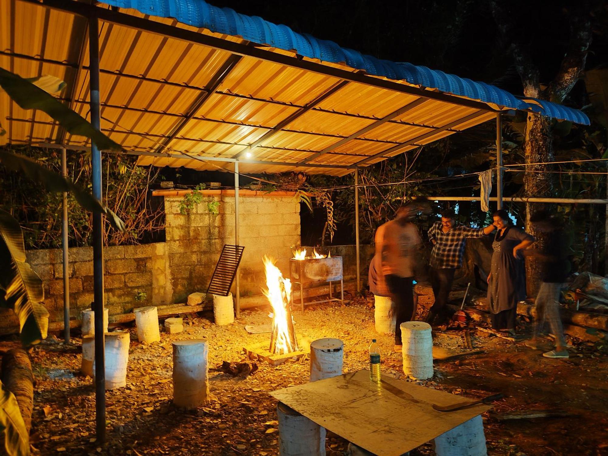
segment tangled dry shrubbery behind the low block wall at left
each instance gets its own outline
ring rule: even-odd
[[[61,155],[54,149],[19,147],[0,151],[19,153],[44,164],[47,172],[61,173]],[[164,227],[164,208],[153,207],[148,198],[148,181],[156,179],[150,168],[137,167],[136,158],[107,154],[103,165],[103,199],[108,204],[108,214],[116,214],[125,226],[124,230],[112,229],[111,221],[116,216],[105,218],[105,245],[140,244],[154,240],[156,233]],[[5,165],[0,161],[0,165]],[[24,230],[26,248],[45,249],[61,246],[61,202],[63,188],[57,192],[43,182],[32,180],[18,172],[0,167],[0,209],[11,213]],[[50,170],[50,171],[49,171]],[[91,191],[91,154],[67,151],[68,179]],[[20,168],[19,168],[20,171]],[[34,179],[38,179],[35,175]],[[82,190],[80,192],[83,192]],[[89,195],[90,196],[90,195]],[[80,198],[80,196],[79,196]],[[91,197],[92,198],[92,197]],[[98,204],[95,202],[94,204]],[[91,206],[91,209],[94,206]],[[67,193],[68,233],[71,247],[90,246],[92,242],[92,213],[82,207],[75,193]],[[115,223],[116,225],[116,223]]]

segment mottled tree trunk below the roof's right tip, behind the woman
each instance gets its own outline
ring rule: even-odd
[[[526,163],[553,162],[553,135],[551,134],[551,120],[538,114],[528,114],[526,136],[523,144]],[[527,196],[553,196],[553,179],[548,171],[549,165],[530,165],[526,167],[523,178],[525,195]],[[550,210],[549,204],[526,204],[526,230],[536,239],[535,249],[544,249],[547,235],[534,229],[530,223],[531,216],[539,210]],[[526,260],[526,288],[528,297],[535,297],[541,282],[541,263],[536,258],[528,257]]]

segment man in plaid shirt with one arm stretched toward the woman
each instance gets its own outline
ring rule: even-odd
[[[432,323],[435,317],[444,317],[447,297],[452,291],[454,272],[462,266],[466,238],[481,238],[494,231],[494,225],[485,228],[471,228],[455,221],[451,210],[441,213],[441,221],[429,229],[429,241],[433,244],[430,254],[430,284],[435,295],[435,303],[426,317]]]

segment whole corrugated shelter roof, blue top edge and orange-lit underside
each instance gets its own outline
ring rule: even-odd
[[[43,0],[46,1],[49,0]],[[195,13],[199,14],[197,21],[207,22],[192,22],[207,28],[179,24],[169,18],[144,18],[144,12],[161,16],[159,11],[178,14],[182,10],[176,9],[176,2],[148,0],[138,4],[142,12],[109,12],[98,7],[95,10],[114,15],[100,22],[101,128],[126,150],[164,153],[141,156],[141,165],[232,170],[230,163],[208,159],[233,159],[255,145],[252,159],[240,162],[242,172],[297,170],[343,175],[354,165],[373,164],[486,122],[497,111],[513,108],[516,103],[528,111],[542,110],[581,123],[586,120],[584,114],[565,106],[535,100],[523,103],[508,92],[483,83],[410,64],[383,63],[310,36],[298,38],[287,27],[269,25],[259,18],[249,21],[236,13],[219,18],[225,10],[202,1],[181,4],[179,8],[207,9],[207,16],[200,11]],[[37,2],[0,2],[0,66],[24,77],[52,74],[62,78],[67,83],[61,94],[64,102],[88,117],[86,46],[81,60],[78,58],[83,40],[86,43],[86,18],[73,14],[69,8],[89,7],[73,1],[50,5],[54,9]],[[182,20],[179,15],[175,17]],[[130,24],[133,19],[143,22],[133,26]],[[257,24],[258,28],[252,28],[251,24]],[[171,26],[166,29],[171,33],[165,35],[171,36],[157,32],[159,27],[167,26]],[[240,54],[235,60],[230,46],[212,46],[196,38],[213,37],[220,40],[214,43],[246,45],[244,38],[252,39],[252,33],[260,26],[266,30],[264,44],[284,46],[264,49],[264,55],[281,58],[260,58],[254,52]],[[196,39],[173,37],[176,34],[173,30],[184,29]],[[225,34],[235,30],[242,33],[234,35],[243,38]],[[296,48],[297,52],[313,57],[296,55],[291,50],[293,43],[305,46],[302,49],[308,54],[300,52],[300,48]],[[368,74],[376,76],[366,75],[360,81],[354,76],[361,66],[340,63],[340,52],[350,58],[345,60],[347,63],[359,62]],[[314,58],[333,60],[319,63],[313,62]],[[302,61],[314,67],[299,64]],[[228,64],[229,71],[217,80]],[[80,65],[83,68],[78,71]],[[387,81],[384,77],[403,80],[384,84]],[[213,86],[213,81],[218,84]],[[412,90],[414,85],[423,88]],[[440,96],[437,89],[458,96]],[[480,103],[472,99],[491,101]],[[7,134],[0,137],[0,145],[7,142],[88,145],[83,137],[61,134],[43,112],[19,108],[5,93],[0,93],[0,112],[7,117],[2,119]]]

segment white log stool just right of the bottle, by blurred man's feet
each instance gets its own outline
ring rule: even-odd
[[[433,337],[429,323],[401,323],[403,373],[415,379],[433,376]]]

